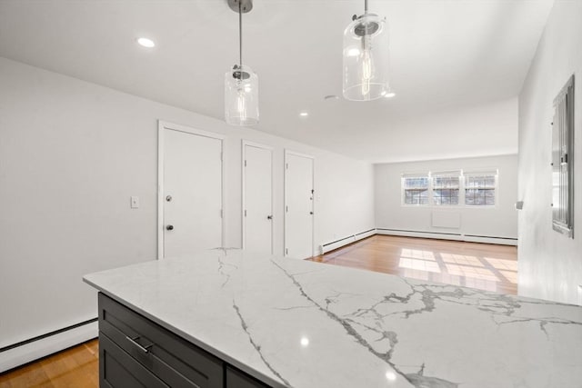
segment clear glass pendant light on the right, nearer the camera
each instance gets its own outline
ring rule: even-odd
[[[344,98],[371,101],[388,92],[388,31],[386,17],[367,12],[354,15],[344,31]]]

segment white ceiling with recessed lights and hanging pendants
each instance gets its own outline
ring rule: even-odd
[[[415,144],[428,117],[519,93],[553,0],[369,0],[388,20],[397,95],[324,101],[341,95],[343,30],[363,4],[254,1],[243,60],[259,76],[256,129],[372,162],[426,159]],[[237,17],[226,0],[0,0],[0,55],[222,119]],[[495,154],[492,136],[498,154],[516,152],[517,134],[501,131],[449,128],[429,157]]]

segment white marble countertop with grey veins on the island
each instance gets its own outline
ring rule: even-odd
[[[240,250],[85,282],[275,387],[582,387],[582,307]]]

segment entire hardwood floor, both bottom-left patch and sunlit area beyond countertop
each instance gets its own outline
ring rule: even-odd
[[[375,235],[310,259],[432,282],[517,293],[515,246]],[[97,340],[9,373],[0,388],[99,386]]]

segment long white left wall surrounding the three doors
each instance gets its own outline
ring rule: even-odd
[[[226,245],[241,244],[241,139],[316,157],[315,247],[374,225],[373,166],[0,58],[0,347],[96,316],[83,274],[156,258],[157,120],[226,134]],[[140,208],[130,209],[131,195]]]

